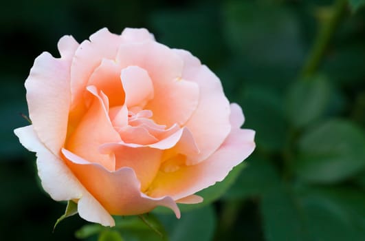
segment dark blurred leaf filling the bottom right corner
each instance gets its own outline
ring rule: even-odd
[[[365,193],[351,187],[297,191],[318,240],[365,240]],[[313,220],[321,219],[321,223]]]

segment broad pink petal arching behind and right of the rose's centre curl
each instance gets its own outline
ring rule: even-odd
[[[161,125],[184,125],[199,101],[199,86],[181,78],[183,62],[165,45],[147,41],[120,46],[118,64],[124,68],[137,65],[148,72],[155,97],[146,105],[153,119]]]

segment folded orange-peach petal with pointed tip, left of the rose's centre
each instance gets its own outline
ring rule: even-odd
[[[103,167],[113,171],[115,169],[114,156],[101,154],[98,147],[103,143],[118,142],[120,136],[111,125],[104,101],[96,87],[89,86],[87,90],[92,94],[93,101],[65,146],[82,158],[100,163]]]

